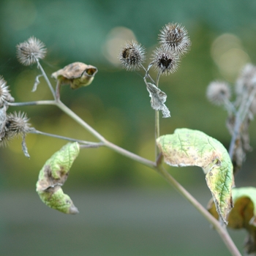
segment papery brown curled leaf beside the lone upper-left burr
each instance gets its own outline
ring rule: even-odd
[[[97,72],[97,67],[74,62],[54,72],[51,77],[59,80],[61,85],[69,84],[71,89],[78,89],[82,86],[89,86]]]

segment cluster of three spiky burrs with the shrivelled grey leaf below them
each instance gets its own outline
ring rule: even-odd
[[[151,97],[151,108],[161,110],[163,117],[170,117],[170,111],[165,106],[166,94],[158,88],[160,75],[176,72],[181,58],[189,51],[191,42],[184,26],[178,23],[168,23],[159,34],[159,46],[151,55],[151,62],[145,68],[146,50],[138,42],[127,42],[119,53],[121,65],[127,70],[144,69],[144,82]],[[151,67],[157,71],[157,79],[149,75]],[[151,80],[151,83],[148,82]]]

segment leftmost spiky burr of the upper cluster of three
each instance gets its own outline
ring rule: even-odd
[[[127,70],[140,69],[145,59],[145,48],[134,41],[127,42],[119,53],[119,60]]]

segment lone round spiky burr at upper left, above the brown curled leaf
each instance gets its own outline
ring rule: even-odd
[[[45,44],[35,37],[20,42],[16,48],[18,61],[25,66],[37,63],[39,59],[44,59],[47,51]]]

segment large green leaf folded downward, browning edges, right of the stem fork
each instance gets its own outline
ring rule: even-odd
[[[184,128],[157,138],[157,145],[168,165],[203,168],[219,217],[227,225],[232,207],[233,165],[222,143],[203,132]]]

